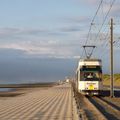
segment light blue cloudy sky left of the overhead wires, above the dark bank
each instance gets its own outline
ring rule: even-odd
[[[27,55],[77,57],[80,34],[95,8],[79,0],[2,0],[0,48]]]

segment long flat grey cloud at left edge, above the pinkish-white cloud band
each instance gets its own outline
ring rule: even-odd
[[[41,36],[65,36],[58,29],[47,30],[47,29],[33,29],[33,28],[0,28],[0,38],[5,40],[23,40],[29,39],[28,37],[33,37],[36,39]],[[26,38],[27,37],[27,38]],[[31,38],[30,38],[31,39]]]

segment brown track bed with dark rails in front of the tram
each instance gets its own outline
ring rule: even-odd
[[[119,98],[85,96],[74,85],[73,90],[80,120],[120,120]]]

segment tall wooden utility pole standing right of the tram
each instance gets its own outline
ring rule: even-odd
[[[114,97],[114,86],[113,86],[113,18],[111,18],[110,25],[110,97]]]

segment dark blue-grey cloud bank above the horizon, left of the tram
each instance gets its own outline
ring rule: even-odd
[[[0,84],[55,82],[75,75],[77,59],[0,59]]]

